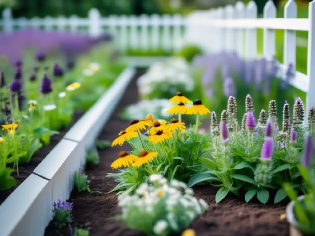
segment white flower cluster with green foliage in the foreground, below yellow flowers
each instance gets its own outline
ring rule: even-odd
[[[193,194],[185,183],[171,180],[168,184],[162,175],[153,174],[149,184],[141,184],[134,195],[118,196],[118,205],[122,208],[122,220],[128,224],[130,219],[133,228],[143,227],[137,228],[136,221],[131,222],[132,216],[137,216],[141,224],[151,224],[150,233],[165,236],[186,229],[196,216],[208,209],[208,204]]]

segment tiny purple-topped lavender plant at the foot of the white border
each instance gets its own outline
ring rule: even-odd
[[[72,203],[60,201],[54,203],[54,224],[57,228],[62,228],[72,222]]]

